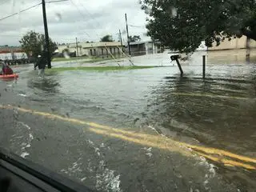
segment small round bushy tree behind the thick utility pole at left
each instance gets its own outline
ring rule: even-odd
[[[19,41],[22,46],[22,50],[25,51],[26,54],[32,52],[32,58],[37,58],[38,54],[42,54],[43,46],[45,45],[45,35],[38,34],[33,30],[26,33],[22,39]],[[57,48],[57,44],[49,39],[50,43],[50,53],[53,53]]]

